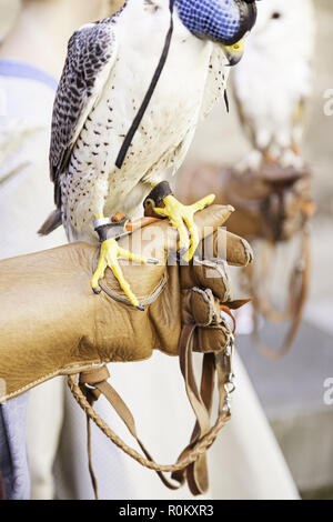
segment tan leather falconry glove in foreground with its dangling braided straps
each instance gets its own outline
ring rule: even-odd
[[[252,261],[246,241],[219,229],[231,212],[230,207],[213,205],[195,215],[200,239],[204,239],[204,255],[186,265],[172,263],[172,265],[165,265],[168,251],[175,252],[178,243],[176,232],[165,220],[119,241],[124,245],[129,240],[133,251],[140,243],[144,255],[160,261],[157,265],[122,267],[145,304],[143,312],[129,304],[110,270],[101,281],[102,292],[91,293],[89,279],[98,250],[85,243],[1,261],[0,287],[6,307],[0,314],[0,402],[57,375],[69,375],[70,388],[88,419],[118,446],[155,470],[170,488],[176,488],[174,481],[182,485],[188,480],[194,494],[206,491],[205,451],[230,419],[233,387],[233,328],[221,314],[221,307],[230,313],[230,309],[245,302],[232,300],[228,263],[244,267]],[[225,249],[221,250],[220,243]],[[189,446],[170,466],[157,464],[138,439],[134,420],[107,382],[109,373],[103,365],[149,359],[155,349],[180,357],[186,393],[198,419]],[[193,351],[204,354],[201,389],[193,373]],[[211,426],[215,374],[220,409]],[[101,393],[145,456],[123,443],[95,413],[93,402]],[[168,481],[162,472],[172,472],[174,481]]]

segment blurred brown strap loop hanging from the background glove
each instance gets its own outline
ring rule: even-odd
[[[263,269],[260,275],[260,281],[266,279],[266,267],[269,260],[274,252],[274,245],[271,242],[265,243],[265,251],[263,258]],[[302,322],[303,311],[306,303],[309,287],[310,287],[310,265],[311,265],[311,245],[310,245],[310,232],[305,225],[302,230],[302,258],[297,261],[293,269],[290,292],[289,292],[289,307],[285,312],[278,312],[273,309],[272,304],[260,294],[256,289],[259,284],[254,281],[253,270],[249,270],[249,287],[251,294],[253,295],[253,340],[256,349],[260,353],[269,359],[281,359],[285,357],[295,339]],[[284,342],[280,349],[272,349],[264,344],[260,335],[259,327],[259,314],[262,314],[265,319],[282,323],[291,320],[291,327],[285,335]]]

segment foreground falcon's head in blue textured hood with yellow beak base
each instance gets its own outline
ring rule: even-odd
[[[221,43],[231,66],[243,54],[243,37],[256,20],[255,0],[174,0],[183,24],[199,38]]]

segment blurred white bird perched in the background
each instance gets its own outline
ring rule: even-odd
[[[258,4],[246,59],[233,74],[241,122],[253,145],[241,170],[256,170],[264,159],[285,168],[304,167],[300,148],[312,93],[314,34],[312,0]]]

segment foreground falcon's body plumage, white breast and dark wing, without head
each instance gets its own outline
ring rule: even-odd
[[[165,0],[129,0],[114,18],[74,33],[54,104],[50,152],[56,203],[69,240],[97,242],[93,219],[140,213],[151,184],[176,172],[198,122],[225,90],[228,60],[174,16],[162,77],[122,169],[115,159],[158,64]]]

